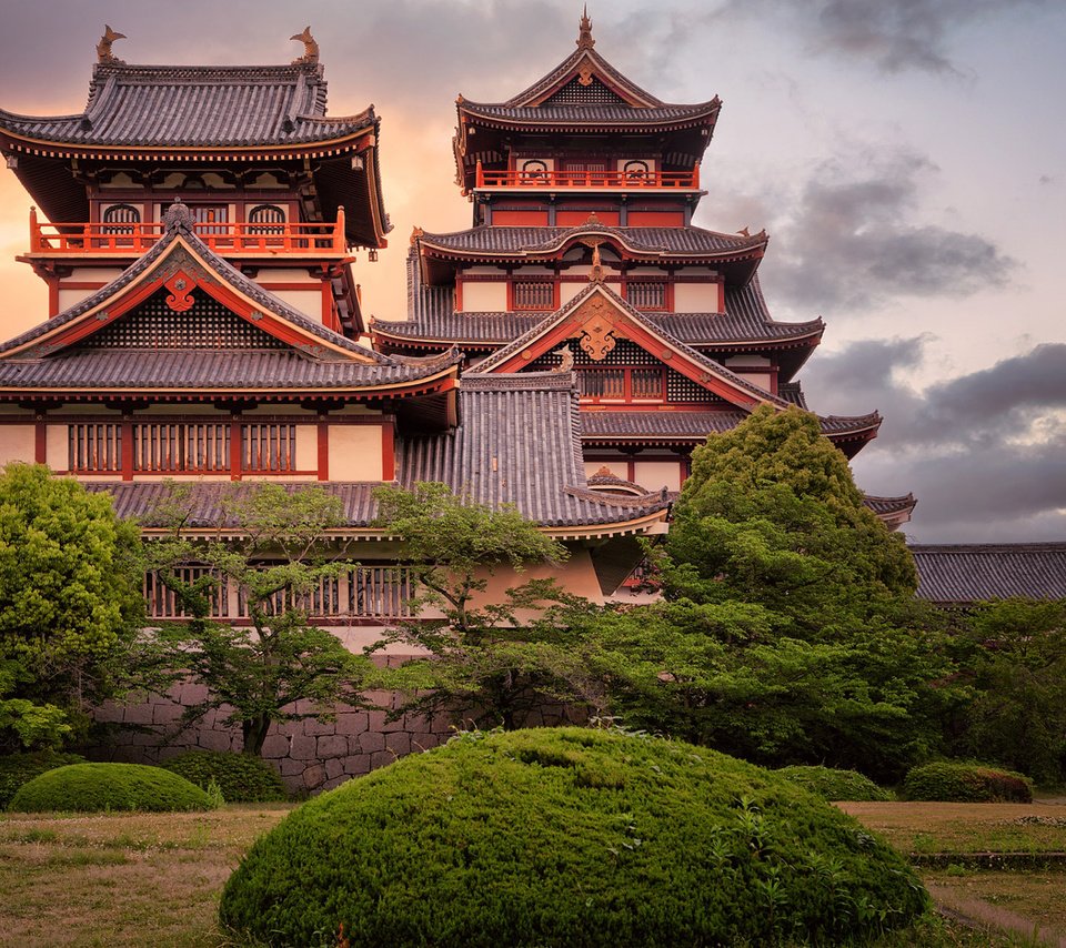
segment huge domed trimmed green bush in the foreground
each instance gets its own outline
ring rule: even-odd
[[[271,945],[838,944],[926,905],[887,845],[783,777],[572,727],[462,735],[304,804],[220,918]]]

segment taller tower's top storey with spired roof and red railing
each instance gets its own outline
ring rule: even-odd
[[[721,104],[641,89],[596,52],[586,14],[576,50],[529,89],[505,102],[459,97],[456,180],[475,226],[575,224],[567,213],[589,211],[565,205],[581,198],[605,223],[683,226],[703,193],[700,162]]]

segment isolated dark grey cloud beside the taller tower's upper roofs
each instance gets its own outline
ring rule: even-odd
[[[916,221],[936,168],[912,151],[823,162],[772,222],[767,286],[800,310],[854,313],[901,296],[966,296],[1007,282],[1016,262],[995,243]],[[782,248],[777,253],[776,248]]]

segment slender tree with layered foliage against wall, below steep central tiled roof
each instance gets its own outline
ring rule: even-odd
[[[398,714],[447,713],[511,728],[545,700],[584,699],[591,683],[573,637],[546,614],[550,604],[584,601],[546,578],[489,592],[497,568],[557,565],[565,547],[514,508],[472,503],[445,484],[381,487],[375,496],[376,525],[402,538],[403,563],[420,591],[411,603],[420,617],[379,647],[403,642],[429,656],[379,674],[378,687],[411,696]]]

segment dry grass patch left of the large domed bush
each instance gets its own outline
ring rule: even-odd
[[[0,945],[223,946],[219,894],[291,806],[0,818]]]

